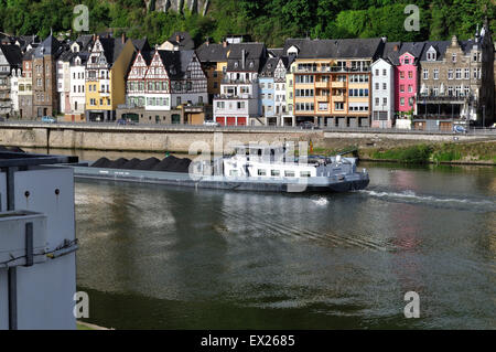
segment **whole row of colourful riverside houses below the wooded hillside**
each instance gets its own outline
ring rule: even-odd
[[[195,50],[185,32],[151,47],[109,33],[3,39],[0,114],[72,121],[451,129],[489,126],[495,50],[487,25],[466,41],[246,35]]]

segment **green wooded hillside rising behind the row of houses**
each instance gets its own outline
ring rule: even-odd
[[[421,9],[419,32],[403,28],[408,17],[403,10],[412,2]],[[269,46],[301,36],[422,41],[448,40],[456,34],[467,39],[485,13],[492,31],[496,31],[493,0],[212,0],[206,17],[187,11],[150,11],[143,0],[0,0],[0,29],[9,34],[41,36],[46,36],[51,28],[68,31],[73,9],[79,3],[89,8],[89,32],[115,29],[117,34],[148,36],[151,44],[165,41],[177,30],[191,32],[197,44],[207,36],[219,41],[226,34],[248,33]]]

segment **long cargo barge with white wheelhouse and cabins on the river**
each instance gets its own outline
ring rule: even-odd
[[[101,160],[73,166],[76,179],[110,180],[151,184],[258,192],[348,192],[363,190],[369,183],[368,172],[357,171],[355,158],[310,157],[291,160],[284,149],[238,147],[234,156],[214,161],[165,158],[162,162]],[[172,160],[171,160],[172,158]],[[108,160],[107,160],[108,161]],[[166,164],[166,166],[164,166]],[[180,166],[180,172],[173,166]],[[164,166],[163,168],[161,166]],[[168,167],[169,166],[169,167]],[[134,169],[127,169],[133,167]],[[149,168],[149,170],[143,170]],[[176,168],[177,169],[177,168]]]

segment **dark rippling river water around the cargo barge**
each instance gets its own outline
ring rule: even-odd
[[[140,157],[112,157],[122,156]],[[369,188],[347,194],[78,181],[77,284],[89,294],[88,321],[495,329],[496,168],[362,167]],[[405,318],[408,291],[420,297],[419,319]]]

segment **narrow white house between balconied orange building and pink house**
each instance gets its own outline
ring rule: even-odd
[[[371,64],[373,128],[391,128],[395,118],[395,68],[389,60]]]

